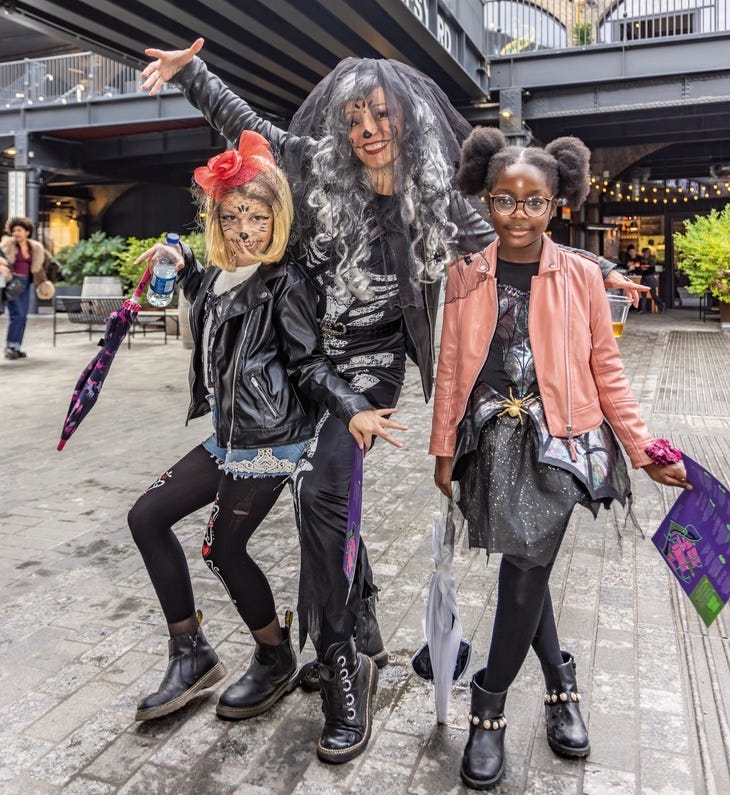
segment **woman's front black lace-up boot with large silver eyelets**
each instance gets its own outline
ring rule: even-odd
[[[319,679],[324,728],[317,756],[334,765],[349,762],[365,750],[370,739],[378,669],[350,639],[327,649]]]

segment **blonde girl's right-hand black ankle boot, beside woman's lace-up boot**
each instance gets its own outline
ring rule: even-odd
[[[256,644],[246,673],[223,691],[215,710],[221,718],[243,720],[261,715],[297,686],[297,656],[289,623],[281,631],[284,640],[277,646]]]

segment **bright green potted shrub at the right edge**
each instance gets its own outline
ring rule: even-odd
[[[685,221],[673,237],[677,270],[689,279],[687,291],[710,293],[720,302],[720,320],[730,326],[730,204]]]

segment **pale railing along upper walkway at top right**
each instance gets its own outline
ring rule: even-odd
[[[730,30],[727,0],[486,0],[488,58]]]

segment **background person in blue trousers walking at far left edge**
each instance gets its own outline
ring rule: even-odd
[[[25,359],[27,356],[21,347],[28,318],[31,285],[35,285],[36,288],[43,285],[40,289],[44,290],[45,283],[48,282],[43,268],[46,251],[37,240],[31,239],[34,228],[30,218],[22,216],[10,218],[6,224],[10,234],[4,236],[0,242],[0,252],[7,261],[7,268],[3,271],[0,267],[0,272],[5,275],[6,281],[9,281],[11,276],[15,276],[24,284],[23,292],[7,302],[9,322],[5,358],[11,360]]]

